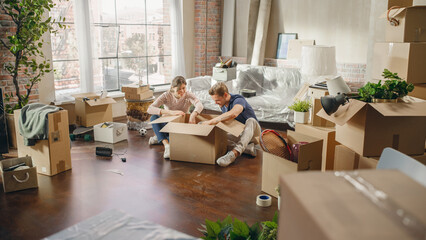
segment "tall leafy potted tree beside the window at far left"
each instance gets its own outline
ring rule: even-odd
[[[49,31],[56,33],[57,30],[53,28],[56,24],[59,28],[65,28],[50,17],[45,17],[54,6],[53,0],[0,2],[0,12],[10,17],[13,24],[11,27],[16,29],[14,32],[6,32],[6,39],[0,39],[0,46],[9,50],[12,58],[11,62],[4,63],[4,70],[11,76],[15,88],[14,94],[5,93],[5,112],[10,114],[7,116],[8,130],[12,131],[9,136],[15,135],[11,114],[28,104],[34,85],[40,82],[46,73],[52,71],[41,49],[44,43],[43,34]],[[64,21],[65,18],[59,20]],[[21,86],[24,86],[24,89]]]

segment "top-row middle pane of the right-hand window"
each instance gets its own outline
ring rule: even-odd
[[[117,23],[145,23],[145,3],[141,0],[117,1]]]

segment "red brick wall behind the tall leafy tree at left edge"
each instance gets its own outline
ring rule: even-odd
[[[7,43],[7,32],[15,32],[16,27],[12,22],[12,19],[9,16],[0,13],[0,38]],[[15,57],[9,52],[9,50],[5,49],[3,45],[0,45],[0,87],[3,90],[3,94],[5,93],[13,93],[15,95],[15,86],[13,85],[12,76],[10,76],[6,70],[4,70],[4,65],[7,62],[14,62]],[[20,93],[26,94],[25,85],[28,83],[28,79],[20,78],[19,79],[19,87]],[[4,96],[3,96],[4,97]],[[14,99],[11,103],[16,102]],[[38,101],[38,86],[34,85],[30,95],[30,101]],[[5,103],[7,104],[7,103]]]

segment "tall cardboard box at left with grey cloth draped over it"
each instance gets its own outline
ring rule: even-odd
[[[52,176],[71,169],[70,137],[67,110],[50,113],[49,139],[38,140],[34,146],[25,146],[24,138],[19,133],[19,116],[21,111],[15,110],[16,136],[18,156],[31,156],[37,172]]]

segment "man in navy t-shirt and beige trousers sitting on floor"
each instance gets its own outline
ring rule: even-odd
[[[215,125],[221,121],[235,119],[245,125],[238,143],[234,149],[216,160],[217,164],[226,167],[233,163],[243,152],[256,156],[254,147],[255,138],[260,136],[261,128],[253,109],[246,99],[239,94],[230,94],[228,88],[222,82],[218,82],[210,88],[209,94],[213,101],[220,106],[222,114],[203,124]]]

